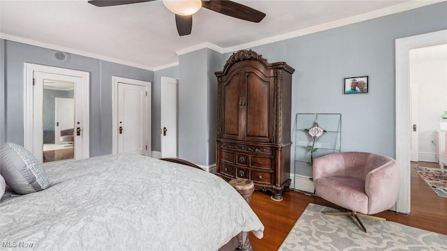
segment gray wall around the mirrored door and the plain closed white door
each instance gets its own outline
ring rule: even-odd
[[[112,76],[149,82],[154,79],[154,73],[150,70],[123,66],[76,54],[71,54],[71,60],[68,63],[61,64],[52,60],[53,50],[9,40],[1,40],[1,42],[4,43],[1,53],[4,53],[5,58],[4,63],[1,64],[1,68],[5,69],[5,74],[1,79],[5,84],[0,87],[1,91],[6,93],[5,122],[2,123],[0,130],[0,135],[2,133],[5,135],[2,139],[3,142],[15,142],[23,145],[24,63],[36,63],[90,73],[90,156],[112,153]]]

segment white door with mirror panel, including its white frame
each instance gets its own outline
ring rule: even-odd
[[[41,162],[89,158],[89,73],[50,66],[25,63],[25,118],[24,147],[33,153]],[[71,128],[74,128],[73,151],[70,157],[44,161],[44,97],[45,89],[73,92],[74,103]],[[50,100],[54,105],[54,100]],[[45,109],[47,109],[45,107]],[[54,114],[54,111],[50,113]],[[52,120],[54,123],[54,120]],[[52,130],[55,130],[53,128]],[[56,153],[54,153],[56,155]],[[53,155],[53,157],[54,157]]]

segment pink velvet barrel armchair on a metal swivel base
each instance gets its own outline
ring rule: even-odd
[[[313,163],[315,191],[321,198],[349,212],[325,213],[386,220],[371,216],[393,207],[399,195],[400,173],[397,162],[374,153],[332,153]]]

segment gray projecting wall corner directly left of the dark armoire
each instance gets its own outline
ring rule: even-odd
[[[193,63],[191,63],[193,62]],[[179,158],[216,162],[217,79],[222,55],[202,49],[179,56]]]

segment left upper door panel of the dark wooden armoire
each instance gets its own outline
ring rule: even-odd
[[[223,137],[227,139],[240,139],[239,114],[239,78],[233,75],[223,85]]]

